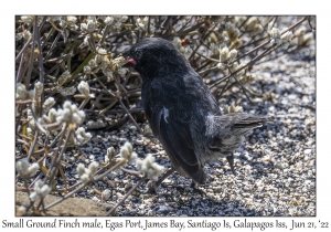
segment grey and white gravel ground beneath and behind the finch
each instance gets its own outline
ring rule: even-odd
[[[271,93],[271,101],[247,97],[237,87],[220,99],[224,107],[239,103],[244,112],[273,116],[269,124],[255,129],[236,150],[233,176],[225,159],[207,164],[206,183],[200,186],[202,194],[190,188],[191,179],[177,172],[159,187],[156,194],[143,193],[145,181],[137,191],[118,208],[116,215],[316,215],[316,44],[298,52],[256,64],[250,71],[256,80],[249,89]],[[241,101],[239,101],[241,99]],[[139,124],[142,128],[147,123]],[[156,161],[167,168],[170,160],[158,140],[139,135],[134,124],[126,124],[119,131],[93,133],[93,139],[82,149],[82,160],[103,161],[108,147],[119,151],[129,140],[139,158],[152,154]],[[66,154],[72,168],[66,169],[68,183],[78,179],[77,157]],[[135,162],[125,167],[137,170]],[[117,171],[108,180],[76,194],[102,201],[93,188],[110,190],[106,203],[116,203],[135,186],[139,177]],[[111,181],[109,181],[111,180]],[[60,188],[63,188],[61,182]]]

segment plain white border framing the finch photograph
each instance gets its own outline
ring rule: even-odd
[[[122,3],[120,3],[122,2]],[[330,222],[330,13],[327,4],[321,2],[303,2],[299,0],[281,0],[281,1],[142,1],[142,0],[125,0],[125,1],[7,1],[6,6],[1,6],[1,210],[0,226],[2,230],[2,220],[18,221],[14,218],[14,15],[15,14],[316,14],[317,15],[317,99],[319,112],[317,114],[317,217],[313,218],[296,218],[296,221],[313,221],[319,220]],[[4,71],[4,72],[3,72]],[[73,218],[62,218],[73,221]],[[122,221],[130,218],[116,218],[111,221]],[[146,218],[139,218],[145,220]],[[131,220],[139,220],[131,218]],[[170,221],[172,218],[148,218],[149,221]],[[173,218],[177,221],[186,222],[189,218]],[[228,220],[233,223],[239,218],[206,218],[211,221]],[[263,222],[275,221],[277,218],[249,218],[249,221]],[[25,220],[28,220],[25,218]],[[52,221],[53,218],[38,218],[39,221]],[[93,221],[92,218],[81,218],[81,221]],[[100,218],[105,222],[107,218]],[[197,218],[202,221],[203,218]],[[244,219],[239,219],[244,220]],[[279,218],[290,224],[291,218]],[[104,228],[105,229],[105,228]],[[46,229],[47,230],[47,229]],[[82,229],[81,229],[82,230]],[[85,230],[85,229],[84,229]],[[109,229],[107,229],[109,230]],[[126,229],[127,230],[127,229]],[[163,229],[160,229],[163,230]],[[169,229],[166,229],[169,230]],[[193,231],[202,229],[192,229]],[[209,229],[210,230],[210,229]],[[223,229],[217,229],[223,230]],[[249,230],[249,229],[248,229]],[[268,230],[268,229],[267,229]],[[329,229],[330,230],[330,229]],[[119,230],[116,230],[119,231]],[[124,231],[124,229],[121,230]],[[163,230],[164,231],[164,230]],[[325,230],[324,230],[325,231]]]

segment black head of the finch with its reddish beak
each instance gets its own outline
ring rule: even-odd
[[[161,38],[146,38],[127,49],[122,55],[125,67],[134,67],[142,78],[179,72],[190,67],[186,59],[174,45]]]

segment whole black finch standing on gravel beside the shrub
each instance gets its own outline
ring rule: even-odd
[[[267,117],[222,115],[210,88],[167,40],[143,39],[124,56],[125,66],[134,67],[142,77],[142,106],[172,168],[195,183],[204,183],[203,165],[226,157],[235,173],[234,150],[243,136],[260,127]]]

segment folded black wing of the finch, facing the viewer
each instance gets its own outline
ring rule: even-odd
[[[182,175],[190,176],[195,182],[204,182],[205,175],[194,152],[189,114],[180,110],[183,106],[179,106],[172,96],[169,94],[166,96],[166,87],[159,82],[145,87],[143,109],[154,136],[160,139],[173,168]]]

